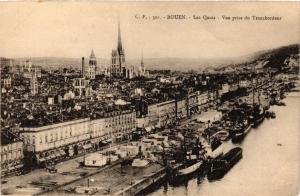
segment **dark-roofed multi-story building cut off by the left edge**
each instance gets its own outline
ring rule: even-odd
[[[1,131],[1,176],[23,168],[23,142],[13,133]]]

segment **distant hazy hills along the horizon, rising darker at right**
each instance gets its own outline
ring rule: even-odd
[[[145,58],[144,63],[146,69],[159,70],[170,69],[178,71],[188,70],[208,70],[208,69],[226,69],[228,67],[234,68],[237,66],[245,66],[256,64],[257,62],[263,63],[266,67],[281,66],[284,61],[291,55],[299,53],[299,45],[290,45],[279,47],[271,50],[258,51],[250,55],[245,55],[236,58]],[[15,59],[26,60],[26,58]],[[62,57],[32,57],[30,60],[33,64],[42,67],[74,67],[80,68],[81,58],[62,58]],[[88,58],[85,63],[88,63]],[[110,59],[97,58],[99,66],[109,66]],[[141,59],[126,59],[127,65],[140,65]]]

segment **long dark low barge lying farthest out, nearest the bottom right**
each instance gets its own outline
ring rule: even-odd
[[[222,178],[243,157],[242,152],[242,148],[235,147],[220,159],[212,160],[207,179],[213,181]]]

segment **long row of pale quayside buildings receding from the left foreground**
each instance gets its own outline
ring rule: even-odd
[[[103,111],[81,118],[46,126],[21,127],[27,163],[43,165],[97,150],[111,142],[131,139],[136,128],[163,128],[176,120],[188,118],[216,102],[216,93],[191,93],[180,100],[149,103],[146,115],[137,116],[134,108]]]

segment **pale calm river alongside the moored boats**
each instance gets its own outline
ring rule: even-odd
[[[271,106],[275,119],[265,119],[252,128],[240,146],[243,158],[219,181],[206,177],[185,185],[164,185],[150,195],[289,196],[298,195],[299,184],[299,93],[283,100],[286,106]],[[233,147],[231,142],[226,144]]]

